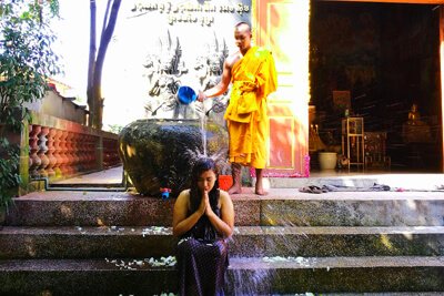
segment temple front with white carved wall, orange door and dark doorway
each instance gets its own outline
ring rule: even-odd
[[[254,45],[272,51],[278,70],[278,91],[269,96],[268,176],[307,177],[325,169],[326,157],[327,167],[341,171],[442,172],[441,3],[135,3],[132,25],[163,23],[141,45],[151,84],[139,110],[145,118],[198,116],[199,106],[174,100],[176,89],[215,84],[236,50],[232,28],[246,21]],[[228,99],[205,103],[206,115],[221,122]]]

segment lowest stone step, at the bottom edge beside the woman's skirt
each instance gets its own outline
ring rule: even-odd
[[[123,262],[123,264],[121,264]],[[130,265],[130,263],[133,263]],[[152,295],[174,292],[171,266],[142,261],[0,261],[1,295]],[[143,264],[143,265],[142,265]],[[230,258],[226,295],[444,290],[444,257]]]

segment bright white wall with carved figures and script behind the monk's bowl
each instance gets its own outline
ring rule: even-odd
[[[109,120],[127,125],[140,119],[198,119],[200,112],[209,110],[210,119],[223,121],[229,92],[208,100],[204,106],[181,103],[176,92],[186,85],[198,93],[219,82],[224,59],[238,51],[234,25],[252,22],[252,1],[176,3],[131,1],[121,8],[119,28],[127,29],[117,28],[117,42],[110,48],[109,58],[125,58],[121,64],[109,65],[104,75],[118,73],[125,92],[105,94],[104,125]],[[120,115],[107,118],[112,112]]]

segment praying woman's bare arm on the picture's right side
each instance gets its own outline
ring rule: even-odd
[[[229,237],[234,231],[233,202],[231,201],[230,195],[224,191],[220,191],[219,198],[221,202],[221,218],[214,214],[209,204],[206,205],[205,214],[215,231],[223,237]]]

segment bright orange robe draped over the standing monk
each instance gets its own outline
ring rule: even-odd
[[[231,70],[230,162],[265,169],[269,118],[266,98],[276,91],[278,75],[271,52],[253,47]]]

